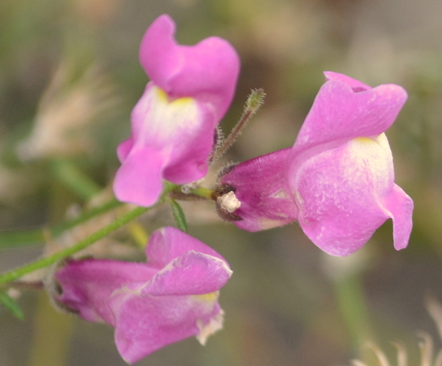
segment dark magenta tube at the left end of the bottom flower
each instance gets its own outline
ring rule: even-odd
[[[134,282],[147,282],[156,272],[141,263],[70,260],[55,275],[63,290],[57,301],[78,312],[85,320],[106,321],[115,325],[107,305],[113,291]]]

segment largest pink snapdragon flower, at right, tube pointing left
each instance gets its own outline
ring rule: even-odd
[[[327,72],[293,148],[233,166],[220,177],[241,202],[235,224],[259,231],[299,220],[323,251],[347,256],[388,218],[394,247],[407,246],[413,202],[394,184],[385,131],[407,94]]]

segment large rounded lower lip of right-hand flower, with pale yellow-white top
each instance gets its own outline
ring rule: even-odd
[[[389,218],[382,203],[393,180],[383,138],[353,139],[311,157],[290,181],[302,230],[326,253],[353,253]]]

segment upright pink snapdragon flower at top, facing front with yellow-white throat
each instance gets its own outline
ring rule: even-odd
[[[215,127],[233,98],[240,65],[233,47],[218,37],[180,46],[174,32],[162,15],[142,39],[140,62],[151,81],[133,108],[131,137],[117,148],[114,192],[122,202],[151,206],[163,179],[204,177]]]

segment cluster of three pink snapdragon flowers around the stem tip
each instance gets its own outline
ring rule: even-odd
[[[151,81],[131,114],[131,137],[117,148],[122,165],[113,187],[122,202],[152,206],[164,180],[180,186],[204,177],[233,98],[239,59],[231,45],[211,37],[180,46],[174,29],[162,15],[142,39],[140,61]],[[392,218],[394,247],[403,249],[413,202],[394,184],[384,133],[407,94],[392,84],[370,88],[325,76],[294,146],[223,168],[210,197],[222,218],[247,231],[298,220],[334,256],[361,248]],[[128,363],[189,336],[204,344],[222,327],[218,291],[231,276],[218,253],[172,227],[151,235],[146,256],[146,264],[70,260],[55,275],[59,305],[115,327]]]

